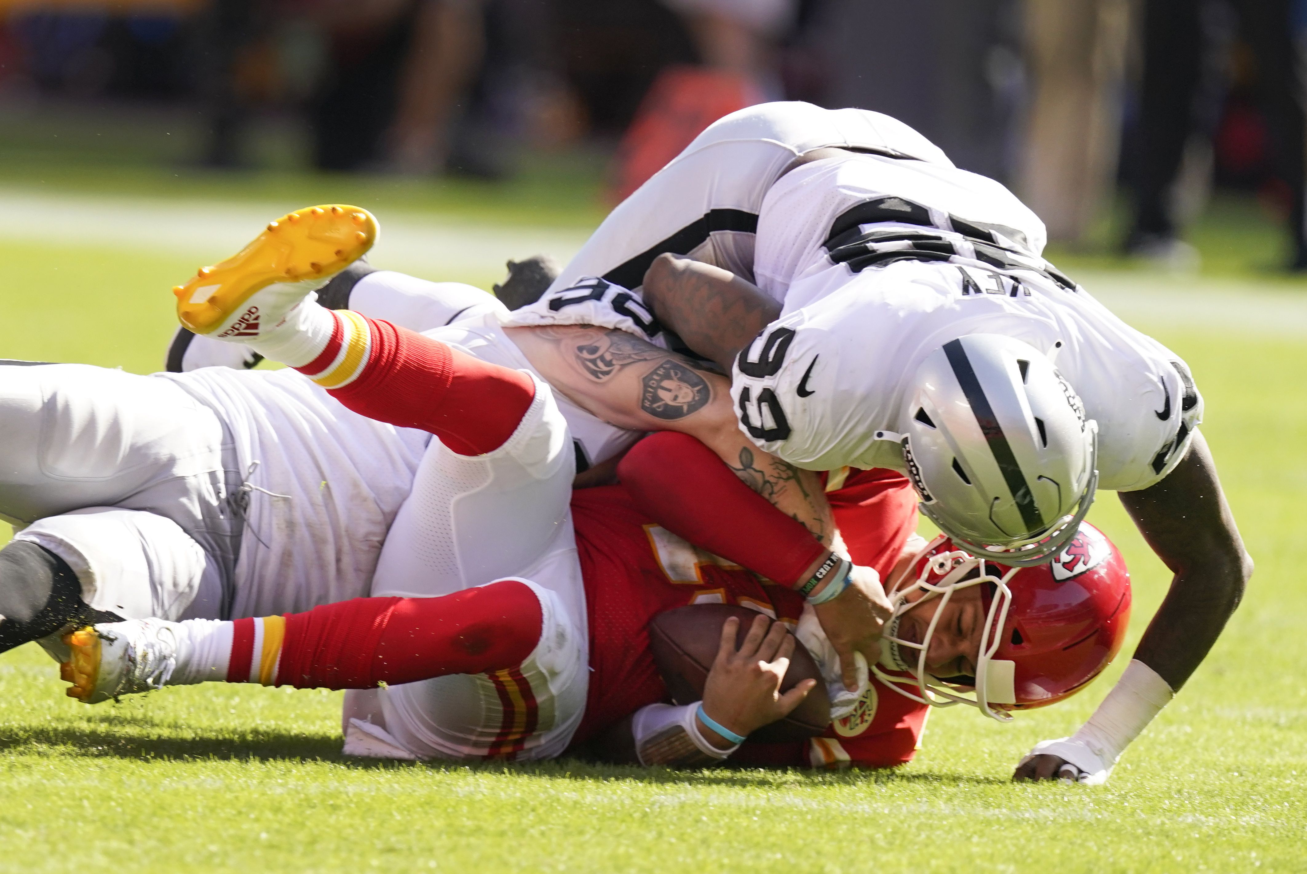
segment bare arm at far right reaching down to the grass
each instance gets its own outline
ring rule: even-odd
[[[1134,658],[1172,691],[1189,679],[1239,606],[1252,576],[1202,432],[1162,482],[1120,493],[1121,503],[1158,558],[1175,575]],[[1056,779],[1065,760],[1036,755],[1017,767],[1017,780]]]

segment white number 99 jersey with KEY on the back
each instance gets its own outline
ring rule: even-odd
[[[736,363],[741,425],[763,449],[826,470],[904,468],[918,364],[968,333],[1055,355],[1098,422],[1099,486],[1146,489],[1183,456],[1202,400],[1188,367],[1039,256],[1042,222],[999,183],[851,155],[783,176],[758,223],[757,276],[782,317]]]

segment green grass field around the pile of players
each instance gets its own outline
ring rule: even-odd
[[[506,227],[584,227],[599,214],[584,174],[554,188],[451,183],[413,193],[391,180],[60,172],[63,191],[105,197],[350,199],[383,223],[388,208]],[[0,184],[46,182],[9,166]],[[1257,252],[1273,251],[1256,216],[1222,221],[1247,225]],[[1247,263],[1216,263],[1208,291],[1221,293],[1222,276],[1260,282]],[[158,366],[173,325],[167,290],[196,267],[190,253],[21,235],[0,240],[0,358],[137,372]],[[495,267],[460,278],[489,285]],[[1098,281],[1107,290],[1116,277]],[[1276,319],[1273,304],[1256,306]],[[20,648],[0,656],[0,870],[1307,870],[1307,587],[1293,571],[1307,551],[1307,333],[1179,324],[1141,327],[1193,368],[1257,572],[1208,662],[1106,786],[1009,776],[1031,745],[1089,715],[1168,583],[1111,495],[1091,520],[1133,571],[1127,653],[1081,698],[1010,725],[970,709],[936,713],[918,760],[891,772],[359,764],[339,755],[337,694],[212,685],[88,708],[63,696],[43,653]]]

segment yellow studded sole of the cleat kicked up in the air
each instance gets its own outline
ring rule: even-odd
[[[376,218],[344,204],[306,206],[269,222],[225,261],[175,286],[176,316],[197,334],[213,333],[256,291],[273,282],[328,280],[376,242]],[[71,692],[69,692],[71,694]]]

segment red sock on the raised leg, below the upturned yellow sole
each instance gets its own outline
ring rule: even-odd
[[[459,455],[493,452],[512,436],[536,396],[531,376],[388,321],[363,321],[369,337],[361,346],[362,370],[331,389],[341,404],[379,422],[429,431]],[[336,344],[322,358],[339,353]],[[323,366],[315,361],[298,370],[314,375]]]

